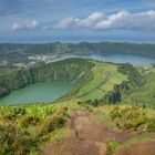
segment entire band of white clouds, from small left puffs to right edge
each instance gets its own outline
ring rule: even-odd
[[[118,11],[116,13],[93,12],[85,18],[69,17],[62,19],[53,25],[39,25],[37,20],[31,22],[13,23],[12,30],[52,30],[52,29],[79,29],[79,30],[136,30],[136,31],[154,31],[155,30],[155,11],[131,13],[128,11]]]

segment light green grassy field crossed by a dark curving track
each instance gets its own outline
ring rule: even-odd
[[[112,91],[115,84],[127,80],[127,76],[117,71],[117,65],[111,63],[93,62],[93,80],[80,89],[76,97],[81,101],[103,97]]]

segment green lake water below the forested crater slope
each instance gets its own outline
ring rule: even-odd
[[[74,89],[71,82],[53,81],[28,85],[0,99],[0,105],[50,103]]]

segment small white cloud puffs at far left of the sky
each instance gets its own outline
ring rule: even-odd
[[[38,21],[33,20],[29,23],[13,23],[12,25],[12,30],[33,30],[35,28],[38,28],[39,23]]]

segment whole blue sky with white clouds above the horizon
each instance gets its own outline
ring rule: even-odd
[[[0,0],[0,42],[155,43],[155,0]]]

